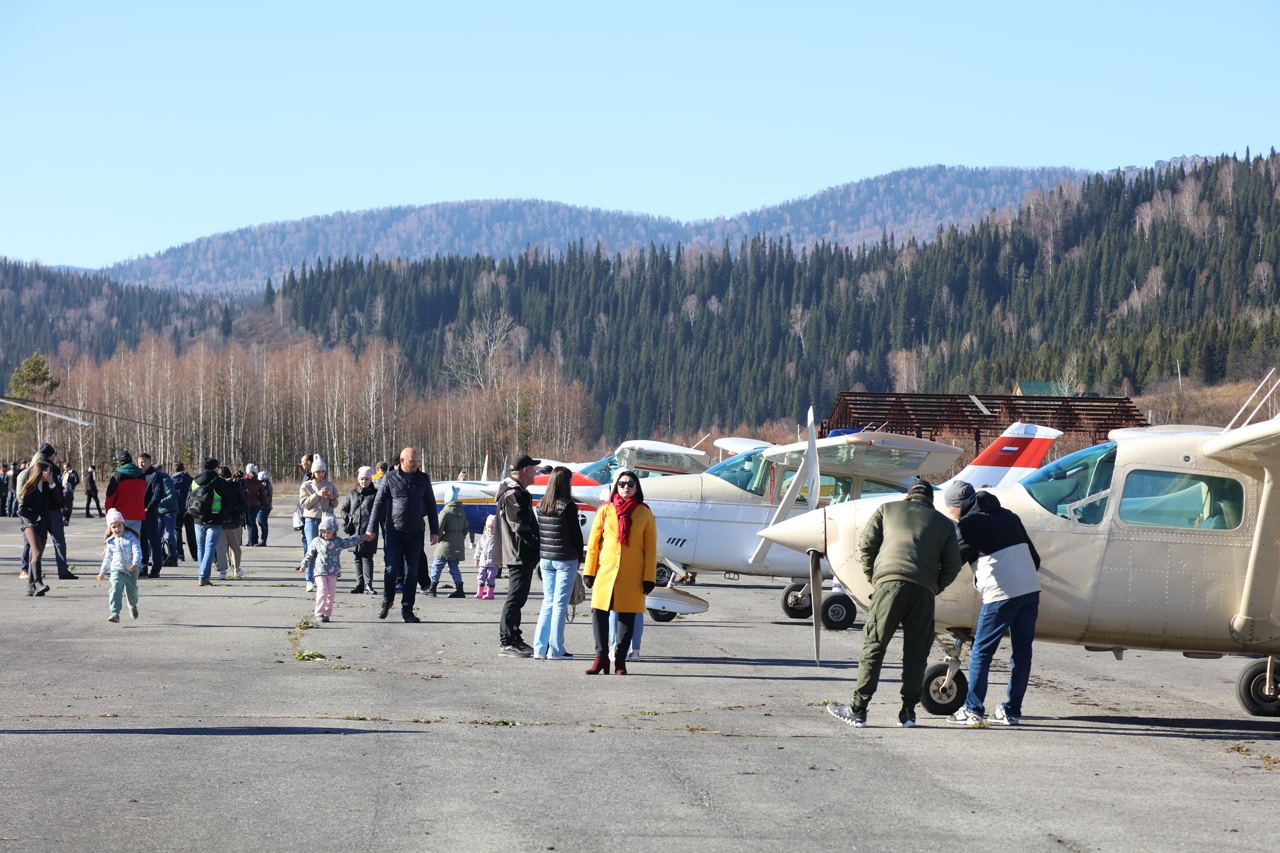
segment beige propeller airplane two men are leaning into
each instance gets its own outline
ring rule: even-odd
[[[1242,671],[1238,698],[1252,715],[1280,716],[1280,419],[1247,418],[1233,429],[1238,419],[1226,429],[1116,429],[1106,443],[988,491],[1021,517],[1041,553],[1037,639],[1116,658],[1129,648],[1260,658]],[[872,589],[858,540],[887,500],[896,496],[823,507],[760,535],[808,553],[812,579],[826,556],[865,605]],[[972,580],[966,566],[937,599],[938,639],[950,638],[951,649],[924,676],[932,713],[954,712],[968,689],[960,654],[980,608]],[[817,653],[817,630],[814,644]]]

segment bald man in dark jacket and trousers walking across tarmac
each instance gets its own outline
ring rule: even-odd
[[[431,530],[431,544],[440,540],[440,523],[435,515],[435,493],[431,491],[431,478],[419,470],[419,455],[412,447],[401,451],[401,461],[387,476],[378,482],[378,496],[374,498],[372,512],[365,526],[365,542],[378,537],[379,526],[385,524],[387,537],[383,540],[383,603],[378,619],[387,619],[396,603],[396,573],[403,565],[404,585],[401,598],[401,617],[406,622],[420,622],[413,615],[413,602],[417,597],[417,573],[422,561],[426,528]],[[425,519],[425,521],[424,521]]]

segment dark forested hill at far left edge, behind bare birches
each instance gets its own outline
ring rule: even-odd
[[[182,346],[219,329],[220,311],[198,296],[0,257],[0,375],[33,352],[60,355],[65,362],[78,353],[106,359],[122,343],[136,347],[147,332]]]

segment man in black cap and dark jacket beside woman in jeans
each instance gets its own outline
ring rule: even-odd
[[[498,653],[504,657],[532,657],[534,649],[520,634],[520,611],[529,601],[534,570],[541,557],[538,516],[529,484],[538,473],[539,460],[527,453],[511,462],[507,479],[498,487],[498,535],[494,538],[493,561],[507,567],[507,601],[502,605],[498,624]]]

